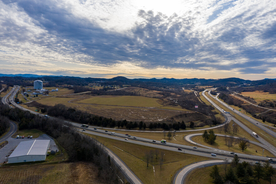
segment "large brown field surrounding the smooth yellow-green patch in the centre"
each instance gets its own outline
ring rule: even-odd
[[[106,100],[105,104],[108,103],[108,99],[110,98],[95,98],[96,100]],[[123,96],[128,99],[128,96]],[[138,96],[131,96],[131,97],[138,97]],[[91,114],[103,116],[103,117],[110,117],[115,120],[130,120],[130,121],[146,121],[146,122],[158,122],[158,121],[182,121],[184,120],[185,122],[189,121],[198,121],[198,120],[204,120],[207,119],[206,116],[200,114],[200,113],[194,113],[193,111],[188,111],[185,109],[180,108],[179,106],[172,107],[172,106],[164,106],[159,104],[159,101],[163,101],[166,103],[164,100],[159,100],[159,99],[154,99],[154,98],[146,98],[146,97],[139,97],[136,99],[142,99],[144,100],[145,103],[148,102],[148,105],[158,105],[159,107],[163,106],[162,109],[152,109],[151,107],[124,107],[124,106],[113,106],[113,105],[98,105],[98,104],[82,104],[82,103],[74,103],[74,101],[83,101],[85,102],[87,99],[89,100],[91,98],[90,95],[70,95],[70,96],[63,96],[63,97],[53,97],[53,98],[45,98],[45,99],[40,99],[37,100],[38,103],[43,104],[43,105],[56,105],[56,104],[64,104],[68,107],[73,107],[77,108],[78,110],[83,110]],[[120,97],[115,97],[115,100],[122,99]],[[111,97],[112,99],[112,97]],[[152,100],[152,101],[150,101]],[[159,101],[158,101],[159,100]],[[78,102],[80,102],[78,101]],[[158,101],[158,102],[157,102]],[[115,103],[114,101],[112,103]],[[128,102],[126,102],[128,103]],[[138,105],[138,101],[136,105]],[[28,105],[28,104],[26,104]],[[128,104],[123,104],[121,102],[121,105],[128,105]],[[143,104],[140,104],[143,105]]]

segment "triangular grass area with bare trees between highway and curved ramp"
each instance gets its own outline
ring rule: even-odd
[[[87,134],[88,135],[88,134]],[[89,135],[94,137],[93,135]],[[145,152],[155,149],[140,146],[128,142],[112,140],[103,137],[97,137],[98,141],[104,143],[113,153],[118,155],[134,172],[136,176],[145,184],[147,183],[171,183],[174,174],[186,165],[196,161],[209,160],[210,158],[202,156],[194,156],[183,154],[180,152],[166,151],[157,149],[159,151],[158,158],[153,156],[153,162],[149,162],[148,167],[145,162]],[[159,159],[160,152],[163,152],[163,164],[161,165]]]

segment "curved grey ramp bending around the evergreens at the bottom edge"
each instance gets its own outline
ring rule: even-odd
[[[208,167],[208,166],[213,166],[217,164],[223,164],[223,162],[224,162],[223,160],[209,160],[209,161],[202,161],[202,162],[197,162],[197,163],[188,165],[184,167],[179,173],[176,174],[176,176],[174,177],[173,184],[183,184],[186,176],[193,169],[196,169],[198,167]]]

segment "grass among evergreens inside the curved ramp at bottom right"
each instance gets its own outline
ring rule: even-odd
[[[217,165],[219,168],[219,174],[220,176],[225,176],[225,171],[223,169],[222,165]],[[213,179],[209,176],[209,174],[212,171],[212,167],[203,167],[203,168],[197,168],[191,171],[188,176],[186,177],[184,183],[193,183],[193,184],[212,184]],[[230,164],[227,166],[230,167]],[[263,179],[260,179],[260,184],[268,184],[267,181],[264,181]],[[272,177],[271,183],[276,183],[275,176]]]

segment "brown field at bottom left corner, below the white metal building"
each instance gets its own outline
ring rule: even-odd
[[[0,183],[105,183],[98,179],[93,163],[31,164],[3,166]]]

